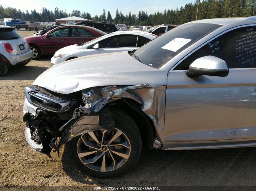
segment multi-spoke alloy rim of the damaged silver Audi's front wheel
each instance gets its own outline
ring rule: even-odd
[[[78,158],[95,171],[118,169],[125,164],[130,153],[130,141],[119,129],[91,131],[81,135],[77,143]]]

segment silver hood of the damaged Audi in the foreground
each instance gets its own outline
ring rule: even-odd
[[[34,81],[61,94],[109,85],[166,85],[168,70],[142,64],[128,52],[83,56],[55,65]]]

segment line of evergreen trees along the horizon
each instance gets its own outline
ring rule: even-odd
[[[100,15],[91,16],[88,12],[80,12],[73,10],[71,13],[65,14],[63,10],[58,7],[48,10],[43,7],[42,12],[39,13],[35,9],[30,12],[21,11],[20,9],[6,7],[0,5],[0,18],[15,18],[24,21],[39,21],[39,22],[54,22],[55,19],[77,16],[92,21],[111,22],[115,24],[126,25],[148,25],[155,26],[157,24],[183,24],[186,22],[194,21],[196,18],[196,11],[198,0],[194,3],[187,3],[184,7],[175,10],[166,10],[164,12],[155,12],[148,14],[145,11],[139,11],[138,14],[122,14],[116,10],[115,17],[112,18],[109,11],[105,11]],[[199,4],[198,20],[207,18],[227,18],[227,17],[249,17],[256,14],[256,0],[201,0]]]

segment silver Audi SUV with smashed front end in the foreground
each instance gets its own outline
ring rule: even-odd
[[[26,140],[65,144],[92,177],[130,170],[141,148],[256,146],[256,17],[193,21],[131,52],[84,56],[25,88]]]

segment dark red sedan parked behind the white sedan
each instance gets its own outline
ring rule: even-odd
[[[45,33],[42,36],[26,37],[33,51],[33,59],[41,55],[54,55],[65,46],[85,43],[107,33],[93,27],[80,25],[64,25]]]

